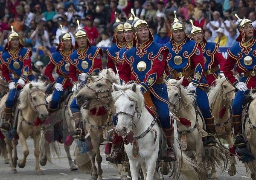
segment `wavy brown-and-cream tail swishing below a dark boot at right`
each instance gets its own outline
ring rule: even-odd
[[[207,167],[215,165],[224,172],[231,163],[232,158],[227,148],[223,148],[219,142],[216,143],[217,146],[204,147],[203,163]]]

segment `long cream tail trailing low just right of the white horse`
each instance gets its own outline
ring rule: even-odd
[[[176,156],[176,162],[172,163],[172,166],[177,165],[177,167],[173,167],[174,170],[174,179],[179,178],[179,174],[181,174],[183,177],[186,177],[186,179],[192,179],[192,180],[199,180],[199,171],[202,171],[202,169],[197,165],[195,160],[192,158],[189,158],[185,153],[182,152],[180,148],[180,143],[178,141],[178,132],[177,132],[177,123],[174,121],[173,123],[174,127],[174,150],[175,150],[175,156]],[[196,171],[197,170],[197,171]]]

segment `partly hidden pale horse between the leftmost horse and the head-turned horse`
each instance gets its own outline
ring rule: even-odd
[[[50,124],[43,124],[42,127],[42,132],[41,132],[41,152],[40,152],[40,164],[41,166],[45,166],[47,163],[47,160],[49,160],[51,162],[51,153],[54,155],[54,153],[59,157],[60,152],[59,149],[56,147],[56,143],[52,142],[49,143],[48,141],[46,141],[45,138],[45,133],[47,132],[47,130],[49,129],[54,129],[54,125],[57,124],[58,126],[60,126],[59,124],[62,125],[61,131],[63,130],[62,136],[65,136],[65,138],[70,135],[70,131],[74,129],[73,127],[73,118],[71,116],[71,110],[70,110],[70,103],[73,100],[73,98],[76,96],[75,93],[73,93],[72,95],[70,94],[62,103],[61,103],[61,108],[60,110],[52,113],[52,115],[49,115],[49,121]],[[49,104],[50,100],[52,98],[52,94],[47,96],[46,100]],[[65,131],[65,132],[64,132]],[[69,137],[70,138],[70,137]],[[72,138],[73,139],[73,138]],[[70,142],[68,143],[64,143],[64,149],[65,152],[67,154],[67,159],[68,159],[68,163],[70,166],[70,170],[71,171],[76,171],[78,168],[77,166],[74,164],[72,157],[70,155],[70,146],[72,144],[72,140],[70,140]],[[52,152],[51,152],[52,150]]]

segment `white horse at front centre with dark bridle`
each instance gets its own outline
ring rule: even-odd
[[[140,86],[135,84],[115,84],[113,85],[112,98],[115,102],[116,118],[118,119],[116,131],[120,136],[125,136],[128,139],[130,136],[131,138],[131,142],[125,145],[125,152],[129,158],[132,179],[137,180],[139,178],[139,170],[143,164],[147,166],[146,180],[157,179],[158,153],[160,151],[160,142],[164,140],[161,128],[156,122],[157,118],[153,117],[145,108]],[[133,134],[129,135],[131,132]],[[180,152],[180,150],[177,151]],[[180,162],[180,155],[177,151],[177,161]],[[187,166],[195,166],[185,155],[183,158]],[[186,176],[184,171],[182,173]],[[198,179],[195,171],[186,177]]]

